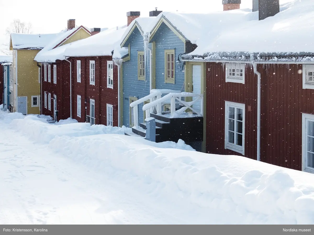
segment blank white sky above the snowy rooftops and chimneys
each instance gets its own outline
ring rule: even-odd
[[[190,0],[197,4],[187,4],[187,0],[90,0],[86,1],[34,1],[15,0],[9,4],[7,0],[0,0],[0,49],[9,38],[5,36],[5,29],[14,19],[32,24],[34,34],[57,33],[66,29],[67,20],[75,19],[77,26],[88,28],[111,28],[127,24],[128,11],[140,11],[141,16],[148,17],[149,11],[155,7],[162,11],[184,11],[206,13],[222,11],[222,0]],[[189,2],[190,2],[189,1]],[[280,3],[291,0],[280,0]],[[32,2],[30,4],[30,2]],[[252,0],[242,0],[241,8],[252,8]],[[1,55],[1,52],[0,52]]]

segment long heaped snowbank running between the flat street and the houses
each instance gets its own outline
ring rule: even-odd
[[[152,203],[190,205],[194,212],[205,208],[206,223],[314,223],[314,175],[310,173],[241,156],[186,151],[182,149],[189,146],[180,142],[152,143],[120,134],[123,128],[51,125],[43,118],[0,112],[3,121],[74,162],[149,195]]]

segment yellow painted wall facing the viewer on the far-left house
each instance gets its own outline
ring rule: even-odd
[[[40,114],[39,107],[32,107],[32,96],[40,95],[38,66],[34,61],[40,50],[17,50],[17,96],[27,96],[27,114]],[[17,102],[17,101],[16,101]]]

